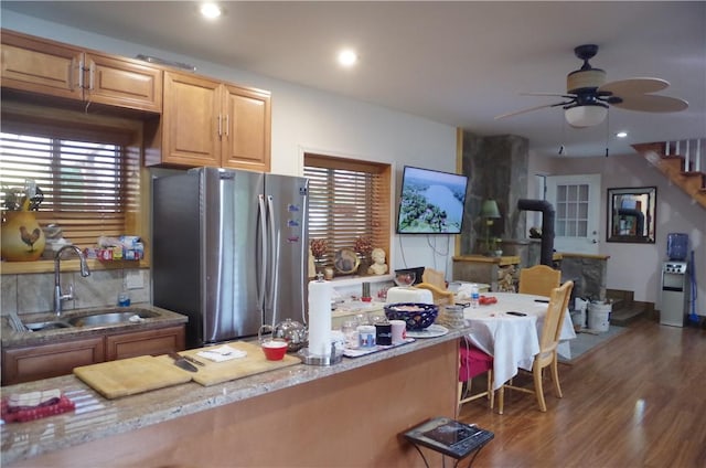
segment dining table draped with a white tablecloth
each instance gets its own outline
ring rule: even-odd
[[[494,297],[496,301],[463,309],[463,319],[471,327],[466,339],[493,357],[493,387],[498,390],[520,369],[532,370],[534,357],[539,352],[539,336],[549,298],[516,292],[484,296]],[[559,334],[559,355],[570,359],[568,340],[574,338],[576,331],[567,310]]]

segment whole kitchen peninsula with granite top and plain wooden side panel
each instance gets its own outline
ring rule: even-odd
[[[297,364],[117,400],[73,375],[2,387],[3,396],[61,389],[76,411],[2,425],[1,462],[414,466],[420,457],[398,434],[434,416],[456,416],[458,338],[468,332],[453,329],[331,366]]]

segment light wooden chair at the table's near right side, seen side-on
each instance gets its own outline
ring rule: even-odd
[[[517,390],[520,392],[533,393],[539,410],[542,412],[547,411],[547,404],[544,400],[544,389],[542,387],[542,371],[545,368],[552,366],[552,381],[554,382],[554,391],[558,398],[563,397],[561,387],[559,386],[559,366],[556,349],[559,344],[559,336],[561,334],[561,325],[564,323],[564,317],[566,316],[566,309],[571,296],[571,289],[574,288],[574,281],[568,280],[560,287],[554,288],[549,295],[549,305],[547,307],[547,313],[544,317],[544,325],[542,326],[542,334],[539,336],[539,352],[534,357],[532,365],[532,374],[534,377],[534,387],[528,389],[524,386],[515,386],[510,383],[500,387],[498,395],[498,412],[503,414],[505,405],[505,389]]]

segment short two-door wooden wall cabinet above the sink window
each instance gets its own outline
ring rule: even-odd
[[[140,61],[2,30],[2,87],[160,113],[162,70]]]

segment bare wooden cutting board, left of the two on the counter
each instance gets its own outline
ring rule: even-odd
[[[189,372],[151,355],[82,365],[74,369],[74,374],[106,398],[135,395],[191,380]]]

